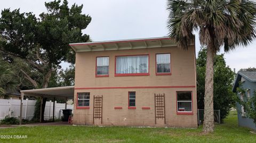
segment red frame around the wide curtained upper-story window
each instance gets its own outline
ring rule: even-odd
[[[116,73],[116,58],[120,56],[148,56],[148,73]],[[149,75],[149,54],[140,55],[119,55],[115,56],[115,77],[126,77],[126,76],[148,76]]]

